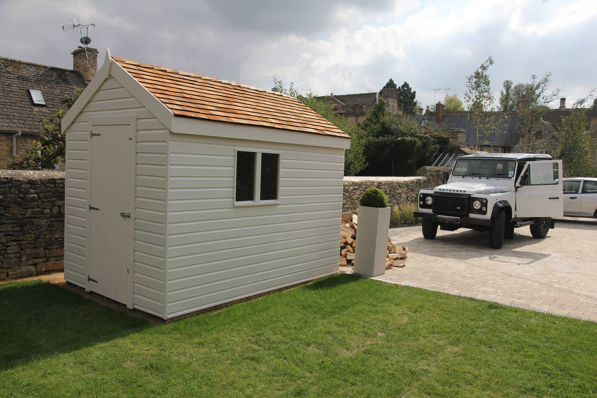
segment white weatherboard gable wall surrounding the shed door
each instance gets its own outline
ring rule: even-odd
[[[103,82],[66,134],[64,279],[87,283],[88,121],[125,115],[137,117],[134,308],[163,317],[168,130],[114,78]]]

